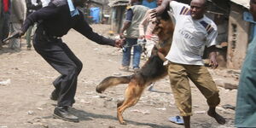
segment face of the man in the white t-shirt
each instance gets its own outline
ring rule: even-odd
[[[199,20],[203,17],[206,10],[205,0],[192,0],[190,3],[191,17],[194,20]]]

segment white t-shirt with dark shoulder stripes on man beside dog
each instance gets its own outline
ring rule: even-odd
[[[188,4],[172,1],[170,7],[176,26],[166,59],[179,64],[203,65],[201,56],[205,46],[216,45],[217,26],[205,15],[200,20],[193,20]]]

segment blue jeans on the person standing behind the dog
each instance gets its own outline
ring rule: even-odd
[[[142,54],[142,46],[136,45],[132,47],[132,45],[137,44],[137,38],[125,38],[125,40],[126,40],[126,44],[125,44],[125,50],[123,50],[122,66],[123,67],[130,66],[131,48],[133,48],[132,67],[139,68],[141,54]]]

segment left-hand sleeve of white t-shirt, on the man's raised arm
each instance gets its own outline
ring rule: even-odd
[[[172,9],[172,12],[173,12],[175,18],[177,18],[178,15],[182,14],[182,11],[184,8],[190,9],[190,6],[188,4],[178,3],[176,1],[172,1],[170,3],[170,7]]]

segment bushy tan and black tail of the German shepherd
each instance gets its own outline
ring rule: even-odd
[[[112,87],[118,84],[128,84],[131,81],[131,76],[121,76],[121,77],[108,77],[103,79],[100,84],[97,85],[96,91],[102,93],[108,87]]]

